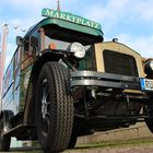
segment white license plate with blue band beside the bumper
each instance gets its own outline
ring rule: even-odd
[[[153,91],[153,80],[140,79],[142,91]]]

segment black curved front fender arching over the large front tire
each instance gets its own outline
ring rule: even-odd
[[[45,50],[42,55],[39,55],[39,58],[36,60],[36,62],[33,66],[32,72],[31,72],[31,79],[28,84],[28,90],[26,94],[26,101],[25,101],[25,108],[24,108],[24,125],[34,126],[34,114],[35,114],[35,89],[37,85],[37,79],[39,75],[39,72],[43,68],[43,66],[48,61],[58,61],[62,55],[57,52],[51,52],[50,50]],[[28,96],[32,96],[28,98]]]

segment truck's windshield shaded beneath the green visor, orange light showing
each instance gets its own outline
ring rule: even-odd
[[[74,42],[81,43],[83,46],[89,48],[89,46],[92,46],[94,43],[102,42],[102,39],[94,37],[93,35],[70,31],[57,25],[45,25],[44,32],[46,49],[51,46],[52,49],[68,50],[70,44]]]

